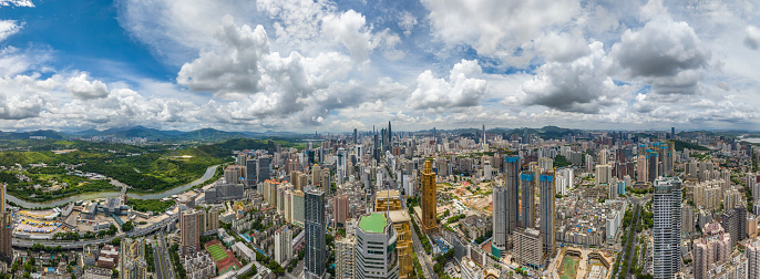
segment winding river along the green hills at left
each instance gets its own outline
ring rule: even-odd
[[[206,173],[203,176],[201,176],[201,178],[195,179],[188,184],[171,188],[171,189],[162,192],[162,193],[127,193],[126,196],[129,198],[137,198],[137,199],[157,199],[157,198],[165,198],[165,197],[168,197],[172,195],[176,195],[176,194],[183,193],[189,188],[193,188],[193,187],[195,187],[202,183],[205,183],[206,180],[214,177],[214,174],[216,174],[217,167],[219,167],[219,166],[218,165],[210,166],[210,167],[206,168]],[[27,200],[19,199],[17,197],[8,194],[7,199],[10,202],[13,202],[14,204],[22,206],[24,208],[34,208],[34,207],[62,206],[62,205],[69,204],[71,202],[89,200],[89,199],[96,199],[96,198],[104,198],[104,197],[117,197],[119,195],[120,195],[119,192],[99,192],[99,193],[88,193],[88,194],[74,195],[74,196],[62,198],[62,199],[33,203],[33,202],[27,202]]]

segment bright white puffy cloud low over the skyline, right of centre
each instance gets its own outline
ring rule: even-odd
[[[443,111],[480,104],[485,94],[485,80],[468,78],[480,75],[476,60],[462,60],[451,69],[449,81],[438,79],[428,70],[417,78],[417,89],[407,100],[414,110]]]

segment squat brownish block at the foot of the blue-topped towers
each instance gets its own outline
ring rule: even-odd
[[[534,228],[518,227],[512,231],[512,260],[517,265],[541,270],[544,264],[544,246],[541,231]]]

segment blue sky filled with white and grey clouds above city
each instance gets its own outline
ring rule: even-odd
[[[760,0],[0,0],[0,130],[760,130]]]

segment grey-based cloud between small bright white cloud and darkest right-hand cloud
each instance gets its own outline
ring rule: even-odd
[[[607,75],[602,42],[593,42],[588,48],[588,55],[572,62],[548,62],[538,68],[536,76],[518,89],[525,96],[525,104],[563,112],[598,113],[603,105],[613,103],[624,87],[617,86]]]

